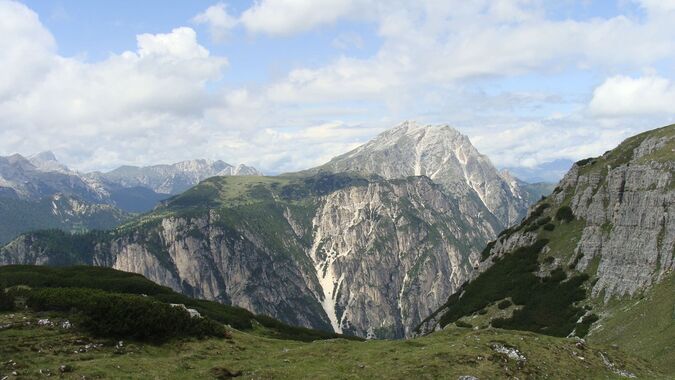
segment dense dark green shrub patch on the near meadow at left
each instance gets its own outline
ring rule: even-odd
[[[82,288],[31,291],[28,306],[36,311],[75,312],[90,333],[116,339],[162,342],[176,337],[225,337],[224,326],[193,318],[179,307],[150,297]]]

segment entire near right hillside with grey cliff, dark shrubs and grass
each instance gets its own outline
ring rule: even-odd
[[[675,125],[581,160],[482,253],[419,332],[451,323],[585,336],[675,372]],[[668,364],[669,363],[669,364]]]

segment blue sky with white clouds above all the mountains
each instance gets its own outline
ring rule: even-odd
[[[675,0],[0,0],[0,155],[319,165],[404,120],[499,168],[675,122]]]

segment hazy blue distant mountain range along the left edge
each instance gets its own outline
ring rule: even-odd
[[[259,174],[245,165],[208,160],[83,174],[52,152],[0,157],[0,210],[11,216],[0,220],[0,243],[36,229],[110,229],[203,179]]]

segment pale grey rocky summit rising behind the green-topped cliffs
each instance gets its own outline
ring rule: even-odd
[[[502,177],[468,137],[447,125],[406,121],[309,172],[319,171],[386,179],[424,175],[458,199],[464,212],[492,214],[497,229],[519,222],[532,203],[520,181]]]

